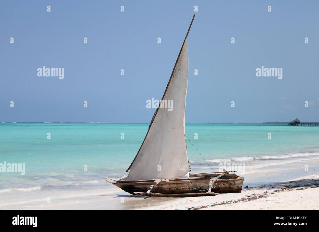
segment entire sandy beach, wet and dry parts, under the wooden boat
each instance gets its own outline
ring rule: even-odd
[[[12,201],[0,209],[317,209],[319,207],[319,159],[267,165],[247,172],[241,193],[190,198],[145,198],[133,196],[101,180],[92,189],[45,190],[22,195],[12,192]],[[308,165],[309,170],[304,170]],[[246,188],[245,186],[249,187]],[[36,192],[36,191],[34,191]],[[30,194],[30,197],[29,197]],[[47,202],[47,196],[51,201]]]

